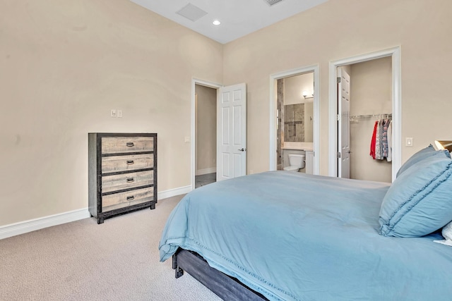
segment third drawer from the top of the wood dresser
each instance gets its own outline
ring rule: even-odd
[[[112,192],[154,183],[154,171],[138,171],[102,177],[102,192]]]

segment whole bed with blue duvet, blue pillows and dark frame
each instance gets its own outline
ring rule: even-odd
[[[392,184],[268,171],[193,190],[160,261],[224,300],[451,300],[452,247],[435,241],[452,221],[452,163],[426,149]]]

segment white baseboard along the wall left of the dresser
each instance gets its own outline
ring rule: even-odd
[[[6,226],[0,226],[0,240],[23,233],[40,230],[42,228],[61,225],[62,223],[69,223],[71,221],[78,221],[79,219],[86,219],[88,217],[90,217],[90,212],[88,211],[88,208],[84,208],[64,212],[62,214],[44,216],[39,219],[30,219],[28,221],[20,221],[19,223],[11,223]]]

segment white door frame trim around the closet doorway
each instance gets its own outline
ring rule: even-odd
[[[350,65],[352,63],[361,63],[364,61],[371,61],[374,59],[381,59],[386,56],[392,58],[392,109],[393,109],[393,160],[392,160],[392,180],[396,180],[396,174],[401,166],[402,161],[402,77],[401,77],[401,61],[400,61],[400,46],[391,49],[372,52],[369,54],[362,54],[359,56],[352,56],[347,59],[340,59],[337,61],[330,61],[329,63],[329,147],[328,147],[328,176],[337,177],[337,149],[338,149],[338,133],[337,133],[337,111],[338,111],[338,92],[336,87],[336,78],[338,77],[338,67]]]

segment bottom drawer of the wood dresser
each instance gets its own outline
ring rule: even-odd
[[[154,188],[143,188],[127,192],[104,195],[102,197],[102,211],[129,207],[133,204],[150,202],[154,199]]]

